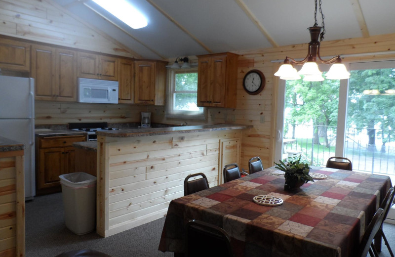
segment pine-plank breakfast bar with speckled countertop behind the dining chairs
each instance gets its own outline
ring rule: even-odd
[[[97,131],[97,229],[107,237],[165,216],[184,195],[186,176],[203,172],[221,183],[225,164],[239,162],[241,131],[221,124]]]

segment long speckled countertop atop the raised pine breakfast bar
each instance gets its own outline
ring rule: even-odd
[[[240,124],[216,124],[216,125],[199,125],[199,126],[182,126],[182,127],[169,127],[169,128],[151,128],[151,129],[122,129],[122,130],[109,130],[97,131],[98,136],[108,137],[135,137],[135,136],[152,136],[152,135],[166,135],[175,133],[193,133],[217,130],[230,130],[230,129],[250,129],[251,125]]]

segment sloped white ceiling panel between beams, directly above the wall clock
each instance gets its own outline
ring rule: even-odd
[[[213,52],[271,47],[234,0],[155,0]]]

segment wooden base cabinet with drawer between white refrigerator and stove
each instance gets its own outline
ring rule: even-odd
[[[73,143],[86,141],[85,135],[36,138],[36,194],[61,191],[59,175],[75,172]]]

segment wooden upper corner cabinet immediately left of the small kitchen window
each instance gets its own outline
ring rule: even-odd
[[[165,62],[135,61],[135,104],[163,105],[165,87]]]

